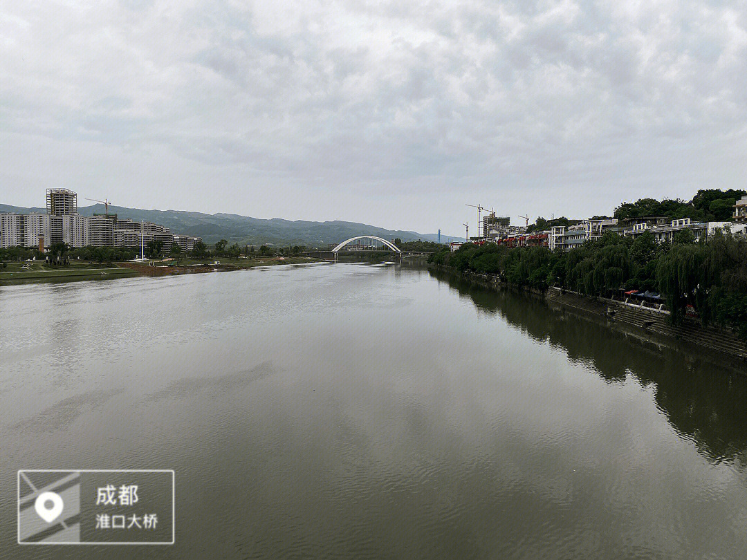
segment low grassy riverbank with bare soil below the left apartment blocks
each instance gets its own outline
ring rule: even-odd
[[[186,262],[185,262],[186,261]],[[211,264],[204,261],[182,259],[179,265],[173,259],[145,262],[117,262],[111,264],[73,262],[64,267],[51,267],[42,262],[10,263],[0,272],[0,284],[25,282],[64,282],[128,278],[131,276],[169,276],[228,272],[278,264],[309,264],[323,262],[313,257],[267,257],[257,259],[218,259]]]

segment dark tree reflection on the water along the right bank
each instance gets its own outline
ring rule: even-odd
[[[510,290],[486,290],[452,274],[431,271],[487,314],[500,314],[509,325],[535,340],[548,340],[568,359],[589,364],[608,382],[635,376],[654,388],[661,411],[681,435],[692,438],[712,461],[741,458],[747,450],[747,379],[699,359],[697,349],[651,349],[601,320],[554,313],[545,302]],[[616,343],[611,343],[611,340]]]

